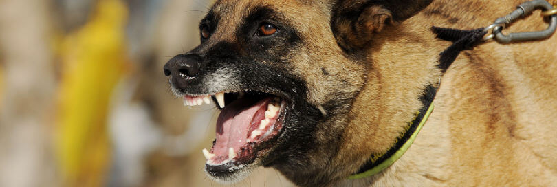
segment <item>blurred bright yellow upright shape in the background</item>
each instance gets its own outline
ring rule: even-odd
[[[65,186],[107,184],[111,161],[107,114],[114,87],[129,65],[127,14],[122,1],[97,1],[89,21],[61,38],[56,147]]]

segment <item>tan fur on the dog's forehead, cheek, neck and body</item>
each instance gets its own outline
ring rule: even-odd
[[[316,177],[331,179],[327,185],[557,186],[557,34],[544,41],[491,41],[460,54],[445,74],[437,68],[439,53],[450,42],[435,39],[432,26],[485,27],[522,1],[437,0],[400,23],[392,22],[391,12],[371,7],[364,11],[371,16],[360,20],[364,27],[357,28],[364,34],[344,38],[331,31],[330,1],[217,3],[243,12],[227,14],[234,16],[219,28],[234,28],[254,5],[273,8],[298,25],[304,47],[283,58],[292,62],[292,74],[304,78],[311,104],[334,100],[333,92],[357,94],[348,116],[318,124],[314,136],[322,144],[316,145],[319,151],[306,153],[310,162],[323,166],[325,174]],[[349,32],[349,23],[339,25],[340,32]],[[505,32],[545,27],[536,11]],[[212,37],[234,41],[226,30]],[[339,45],[348,43],[368,48],[359,56],[364,63],[345,55]],[[418,98],[425,85],[439,81],[435,110],[406,154],[378,175],[346,179],[369,155],[395,144],[422,107]],[[335,142],[331,136],[337,134]],[[329,150],[327,142],[338,150]]]

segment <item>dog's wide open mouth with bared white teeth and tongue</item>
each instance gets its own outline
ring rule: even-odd
[[[219,92],[184,96],[184,105],[209,104],[210,100],[222,109],[212,148],[203,150],[210,175],[233,173],[269,152],[283,127],[285,100],[260,91]]]

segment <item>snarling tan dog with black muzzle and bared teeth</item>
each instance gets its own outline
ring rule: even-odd
[[[298,186],[557,186],[557,36],[483,43],[444,71],[430,28],[493,23],[523,1],[217,0],[201,44],[164,66],[186,105],[221,110],[206,173],[259,166]],[[543,30],[534,12],[503,32]],[[385,155],[437,88],[412,146]]]

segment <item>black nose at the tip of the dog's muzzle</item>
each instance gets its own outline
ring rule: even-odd
[[[164,65],[164,75],[173,77],[193,78],[199,74],[201,57],[195,54],[179,54]]]

